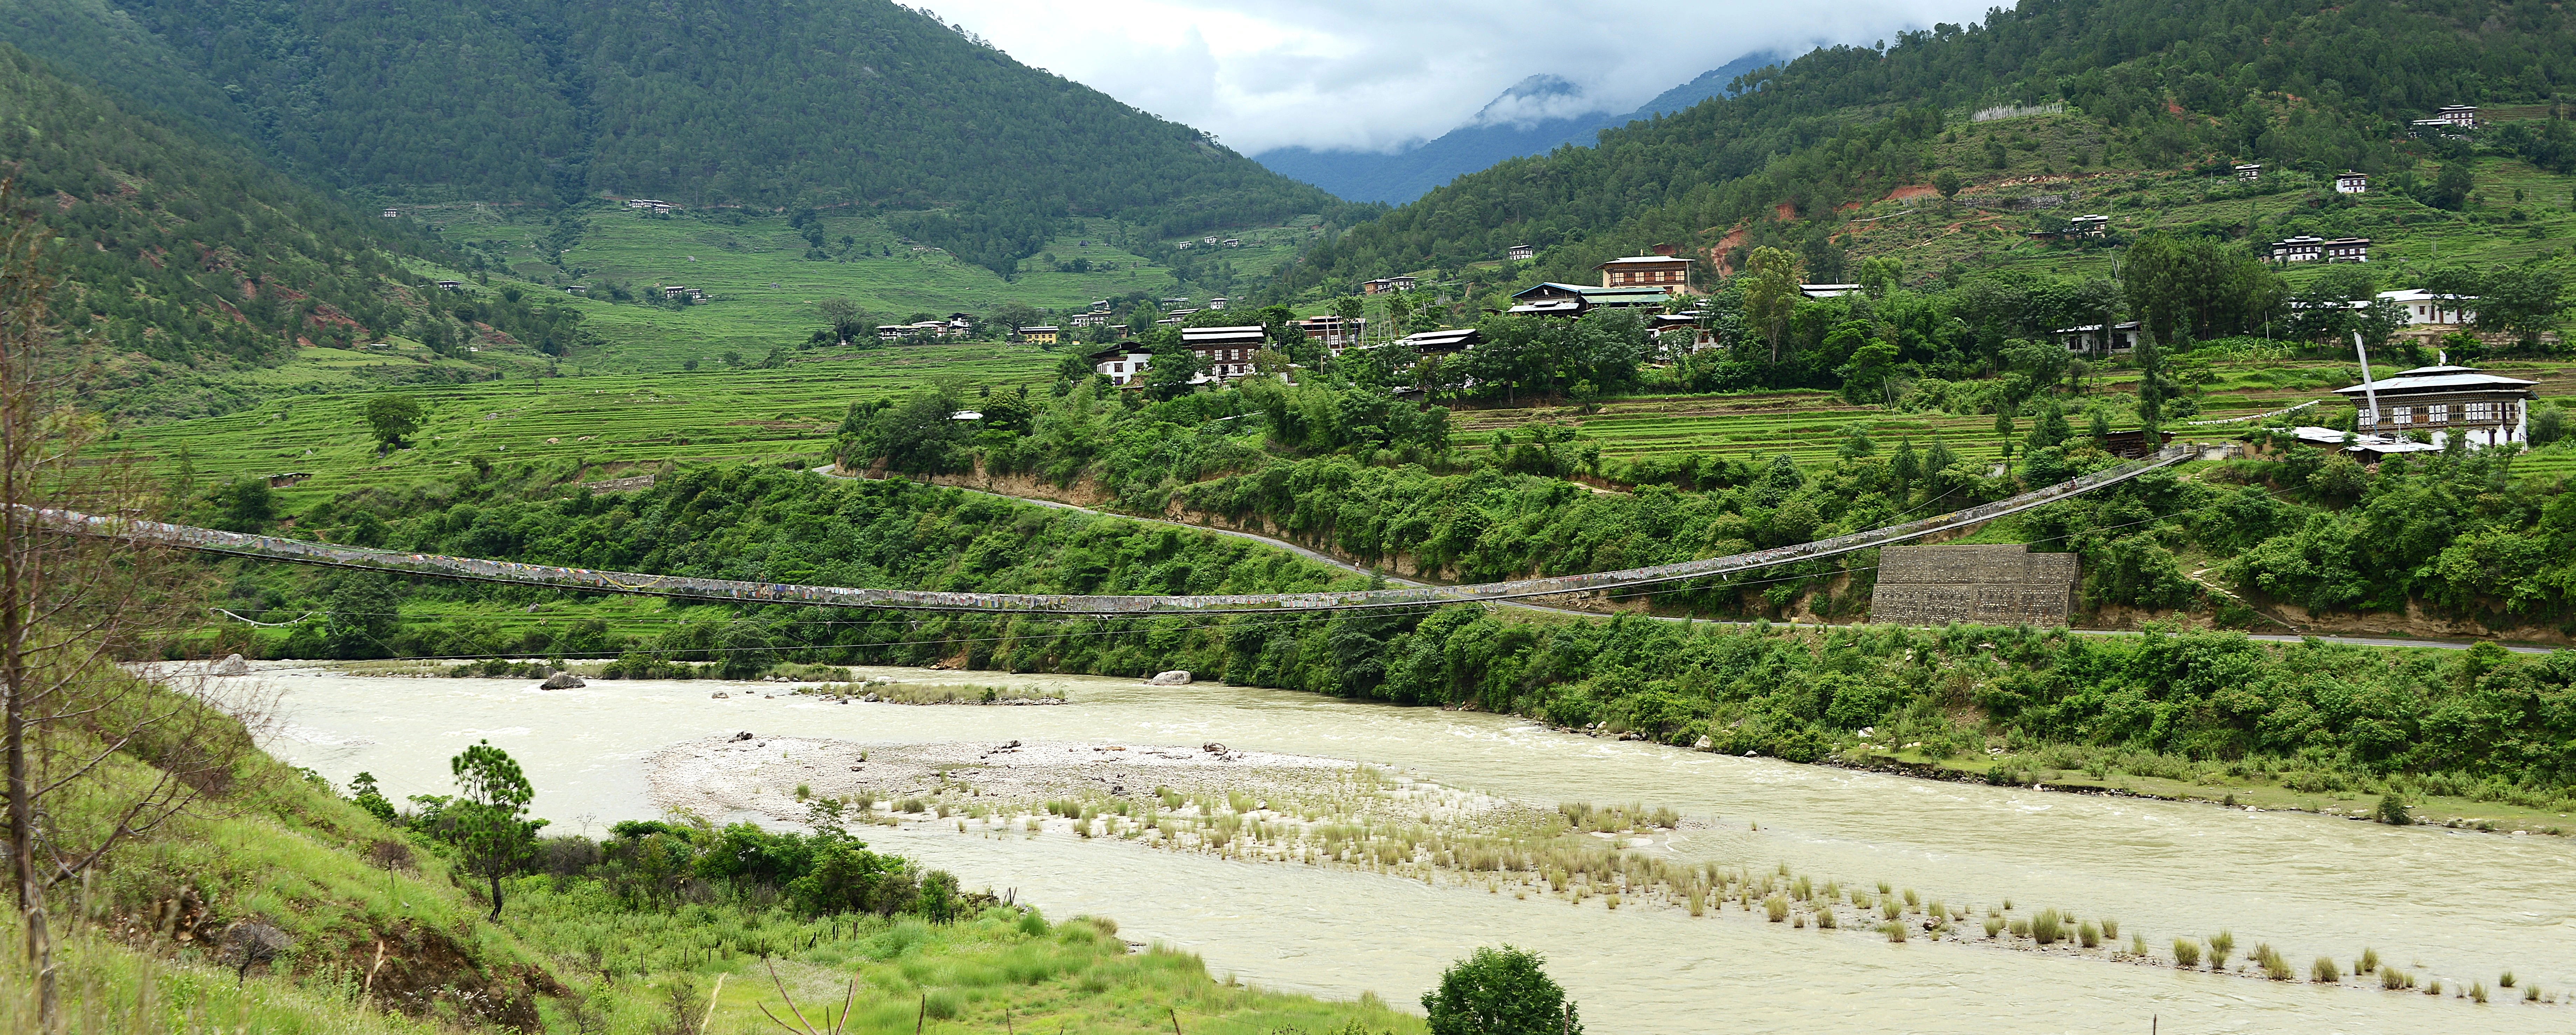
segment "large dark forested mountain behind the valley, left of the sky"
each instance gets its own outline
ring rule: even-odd
[[[1332,209],[1206,134],[886,0],[28,0],[0,41],[291,172],[412,201],[850,209],[1005,270]]]

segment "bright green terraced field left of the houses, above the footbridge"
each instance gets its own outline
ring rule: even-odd
[[[446,479],[477,458],[574,461],[605,479],[659,461],[744,461],[824,451],[855,399],[958,376],[994,391],[1054,381],[1056,353],[1033,345],[920,345],[845,353],[781,371],[595,373],[412,389],[428,412],[415,448],[379,458],[358,407],[366,394],[299,396],[224,417],[129,430],[165,474],[196,479],[312,474],[278,489],[301,507],[353,487]]]

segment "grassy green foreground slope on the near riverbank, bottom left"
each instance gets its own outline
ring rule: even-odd
[[[100,780],[147,765],[118,754]],[[1172,1012],[1203,1032],[1422,1027],[1376,1002],[1211,981],[1195,955],[1133,953],[1108,919],[1048,924],[989,901],[951,922],[811,917],[724,881],[698,883],[693,901],[636,901],[608,891],[613,873],[577,862],[598,860],[587,844],[549,839],[510,878],[495,924],[482,883],[440,839],[252,754],[201,808],[54,904],[62,996],[80,1032],[652,1035],[675,1030],[685,1007],[677,1030],[732,1035],[768,1025],[760,1004],[783,1012],[770,960],[809,1014],[837,1004],[855,973],[853,1032],[907,1032],[925,1009],[969,1032],[1159,1032]],[[0,919],[13,945],[15,922]],[[278,935],[278,955],[245,963],[237,932],[258,927]],[[23,955],[0,958],[0,1030],[33,1030]]]

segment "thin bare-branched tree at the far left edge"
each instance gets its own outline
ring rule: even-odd
[[[46,899],[224,788],[252,752],[258,698],[116,664],[157,657],[155,633],[198,628],[193,569],[116,536],[116,515],[160,502],[129,463],[80,456],[98,422],[72,412],[88,355],[52,314],[62,250],[15,178],[0,180],[0,798],[31,1027],[54,1032],[64,1017]],[[67,536],[36,515],[46,507],[100,515],[106,536]]]

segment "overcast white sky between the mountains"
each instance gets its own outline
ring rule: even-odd
[[[917,0],[920,3],[920,0]],[[1625,113],[1736,57],[1976,21],[1994,0],[927,0],[951,23],[1136,108],[1273,147],[1396,149],[1530,75]]]

